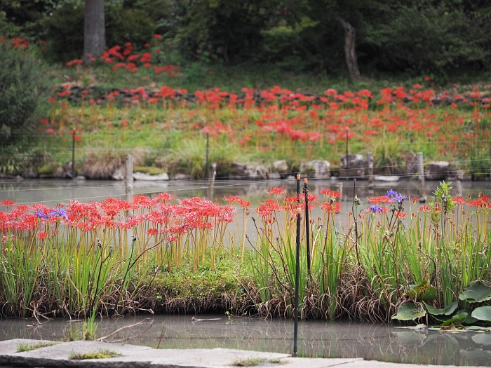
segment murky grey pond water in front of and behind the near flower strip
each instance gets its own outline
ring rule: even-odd
[[[320,194],[322,188],[338,189],[343,184],[342,212],[337,216],[338,226],[348,223],[347,212],[353,198],[353,182],[345,180],[309,180],[311,193]],[[295,190],[295,180],[257,182],[216,182],[213,193],[206,182],[135,182],[134,193],[153,195],[162,191],[174,193],[176,198],[207,196],[221,200],[223,196],[242,196],[249,200],[269,198],[265,192],[274,186]],[[303,183],[302,183],[303,186]],[[426,182],[426,196],[438,186],[438,182]],[[362,199],[361,208],[368,206],[366,197],[382,196],[394,189],[408,196],[419,196],[419,184],[401,180],[396,183],[376,183],[368,189],[367,182],[356,184],[356,193]],[[462,182],[462,196],[475,197],[479,191],[491,193],[490,182]],[[457,192],[454,190],[454,196]],[[11,199],[20,203],[43,202],[51,207],[77,199],[82,202],[100,201],[107,197],[125,198],[123,182],[102,181],[57,181],[57,180],[0,180],[0,200]],[[0,208],[3,210],[3,208]],[[314,213],[314,216],[316,214]],[[240,221],[240,219],[239,219]],[[250,225],[252,226],[252,225]],[[254,229],[248,227],[248,232]],[[111,335],[108,341],[126,340],[137,345],[161,348],[238,348],[264,350],[278,353],[292,352],[291,320],[260,320],[255,318],[224,315],[199,315],[198,321],[191,315],[137,315],[126,318],[105,318],[99,323],[98,336],[111,334],[123,326],[139,325],[122,329]],[[206,320],[220,318],[219,320]],[[201,320],[200,320],[201,319]],[[41,321],[42,322],[42,321]],[[34,325],[32,320],[0,320],[0,340],[66,339],[72,332],[81,329],[81,322],[55,319]],[[136,337],[133,337],[136,336]],[[396,325],[347,321],[304,321],[299,329],[299,353],[305,357],[363,357],[368,360],[418,364],[455,364],[491,366],[491,334],[465,332],[440,334],[433,331],[415,332],[398,329]]]

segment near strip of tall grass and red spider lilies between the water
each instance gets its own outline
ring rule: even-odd
[[[323,217],[306,227],[302,214],[302,318],[389,320],[401,305],[426,308],[419,317],[457,302],[469,309],[459,294],[473,282],[491,282],[487,196],[452,198],[443,183],[429,205],[389,191],[370,198],[368,208],[355,196],[352,208],[341,209],[339,193],[322,193],[308,199],[309,210],[320,206]],[[36,318],[150,310],[289,317],[304,196],[297,204],[282,188],[269,194],[253,216],[251,203],[236,196],[228,205],[175,202],[166,193],[57,208],[4,201],[1,311]],[[237,210],[256,234],[227,229]],[[335,226],[341,210],[351,212],[349,229]]]

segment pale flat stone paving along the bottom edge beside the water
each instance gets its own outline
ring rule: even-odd
[[[5,367],[77,367],[77,368],[222,368],[236,367],[238,362],[258,364],[253,367],[327,368],[401,368],[401,364],[363,359],[323,359],[291,357],[288,354],[264,353],[231,349],[154,349],[147,346],[105,343],[101,341],[72,341],[17,353],[20,343],[31,345],[39,340],[14,339],[0,341],[0,368]],[[72,353],[96,353],[112,350],[118,357],[90,360],[71,360]],[[416,368],[417,364],[403,364],[402,368]],[[433,367],[452,367],[436,366]]]

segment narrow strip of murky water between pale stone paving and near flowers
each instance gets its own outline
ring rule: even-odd
[[[292,351],[291,320],[227,318],[226,315],[137,315],[105,318],[98,336],[107,341],[161,348],[236,348],[276,353]],[[220,318],[219,320],[206,320]],[[81,322],[55,319],[33,326],[29,320],[1,320],[0,340],[60,340],[81,329]],[[72,332],[70,332],[72,330]],[[299,355],[304,357],[363,357],[366,360],[414,364],[491,366],[491,334],[398,329],[394,325],[349,321],[304,321],[299,328]]]

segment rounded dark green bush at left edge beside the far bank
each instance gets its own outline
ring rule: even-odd
[[[25,48],[0,42],[0,141],[12,144],[28,134],[47,90],[43,68]]]

